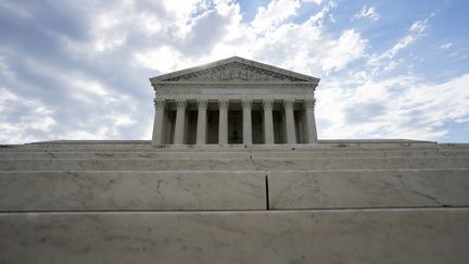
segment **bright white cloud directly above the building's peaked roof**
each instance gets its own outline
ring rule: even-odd
[[[288,67],[309,74],[329,73],[344,68],[348,63],[364,56],[366,40],[355,29],[344,30],[340,36],[326,34],[322,21],[335,4],[328,2],[303,23],[288,22],[295,15],[300,1],[272,1],[259,8],[252,22],[243,22],[238,3],[216,3],[214,11],[228,21],[226,27],[208,52],[203,56],[188,53],[178,42],[149,48],[135,54],[137,63],[166,73],[194,66],[231,55],[246,56],[265,63]],[[194,18],[197,20],[197,18]],[[207,24],[220,24],[210,18]],[[193,28],[203,32],[204,28]],[[187,34],[182,42],[189,41]],[[206,49],[205,41],[191,45],[190,50]],[[200,48],[199,48],[200,47]]]

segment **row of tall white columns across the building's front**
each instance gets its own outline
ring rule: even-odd
[[[274,118],[272,109],[274,102],[281,101],[284,108],[284,118],[286,118],[286,139],[289,144],[295,144],[295,121],[293,106],[295,104],[294,100],[272,100],[264,99],[262,100],[263,112],[264,112],[264,143],[274,144]],[[305,112],[306,120],[306,142],[315,143],[317,142],[316,133],[316,121],[314,114],[315,99],[303,100],[302,103]],[[197,144],[206,143],[206,129],[207,129],[207,100],[198,100],[198,121],[197,121]],[[228,143],[228,106],[230,104],[229,100],[217,100],[218,103],[218,144]],[[155,105],[155,118],[153,127],[153,144],[164,144],[164,122],[165,122],[165,106],[167,104],[166,100],[154,100]],[[242,117],[243,117],[243,143],[252,144],[252,100],[241,100],[242,105]],[[174,144],[183,144],[185,135],[185,121],[186,121],[186,108],[187,100],[176,100],[176,122],[174,130]]]

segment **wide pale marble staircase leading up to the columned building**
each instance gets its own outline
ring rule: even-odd
[[[0,147],[0,264],[469,263],[469,144]]]

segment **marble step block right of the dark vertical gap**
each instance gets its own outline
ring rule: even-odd
[[[469,206],[469,168],[270,172],[270,209]]]

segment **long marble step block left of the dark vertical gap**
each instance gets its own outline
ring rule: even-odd
[[[265,177],[262,172],[3,172],[0,211],[265,210]]]

